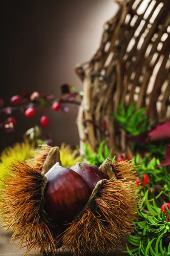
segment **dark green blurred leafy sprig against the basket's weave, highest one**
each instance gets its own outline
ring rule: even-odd
[[[119,125],[130,135],[139,135],[147,131],[154,122],[148,124],[148,116],[145,114],[145,108],[140,108],[135,111],[136,102],[133,102],[127,110],[124,103],[118,105],[117,112],[112,113],[114,118],[119,122]]]

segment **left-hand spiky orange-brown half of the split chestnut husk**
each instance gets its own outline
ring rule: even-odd
[[[31,249],[54,253],[57,243],[43,211],[46,177],[21,160],[8,169],[0,202],[6,232],[13,232],[12,239],[20,238],[19,247],[26,244],[26,253]]]

